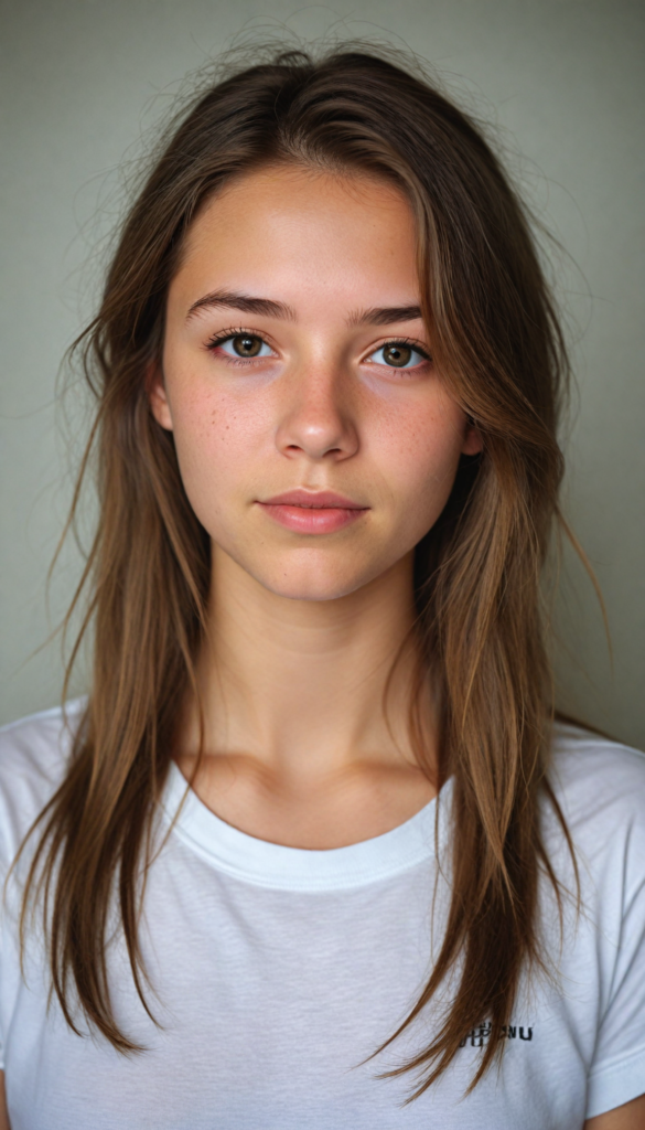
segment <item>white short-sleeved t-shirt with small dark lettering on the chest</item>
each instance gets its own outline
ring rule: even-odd
[[[68,749],[59,711],[0,733],[2,873],[60,781]],[[148,1048],[143,1054],[128,1058],[101,1037],[75,1035],[55,1000],[47,1014],[35,933],[26,981],[20,976],[10,883],[0,1035],[12,1130],[577,1130],[585,1118],[642,1094],[645,758],[563,728],[552,780],[578,853],[583,910],[576,919],[566,903],[560,956],[544,885],[542,920],[558,982],[522,989],[502,1070],[465,1098],[486,1025],[464,1034],[447,1074],[409,1106],[402,1103],[411,1075],[375,1078],[428,1042],[432,1008],[359,1066],[407,1015],[441,940],[447,879],[438,877],[435,815],[438,803],[441,854],[450,782],[438,801],[394,831],[332,851],[253,838],[189,792],[145,895],[148,1001],[162,1027],[137,998],[121,941],[108,951],[117,1020]],[[166,829],[184,796],[173,767]],[[544,826],[556,869],[573,888],[561,833],[547,812]]]

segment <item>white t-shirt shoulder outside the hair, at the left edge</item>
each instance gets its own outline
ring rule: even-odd
[[[12,854],[60,785],[85,699],[0,728],[0,832]]]

